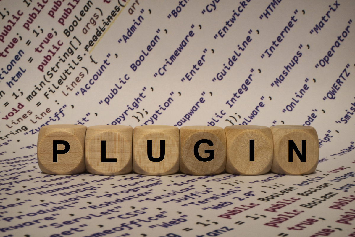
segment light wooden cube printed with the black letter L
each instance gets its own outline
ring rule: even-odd
[[[85,137],[87,171],[100,175],[130,173],[133,169],[132,135],[133,128],[130,126],[97,125],[88,127]]]

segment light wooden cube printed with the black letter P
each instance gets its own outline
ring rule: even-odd
[[[84,125],[43,126],[37,141],[39,168],[47,174],[84,172],[86,129]],[[54,162],[55,159],[57,162]]]

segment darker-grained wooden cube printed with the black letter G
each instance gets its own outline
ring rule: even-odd
[[[223,128],[217,126],[180,128],[180,171],[182,173],[219,174],[224,171],[226,154],[226,137]]]

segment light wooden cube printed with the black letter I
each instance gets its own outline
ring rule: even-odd
[[[268,127],[234,125],[226,126],[224,131],[227,138],[226,172],[260,175],[270,171],[273,160],[273,139]]]

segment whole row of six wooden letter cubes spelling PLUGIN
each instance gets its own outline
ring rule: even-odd
[[[291,150],[290,140],[297,146]],[[37,154],[48,174],[302,175],[315,171],[319,146],[316,130],[300,125],[47,125],[39,131]]]

